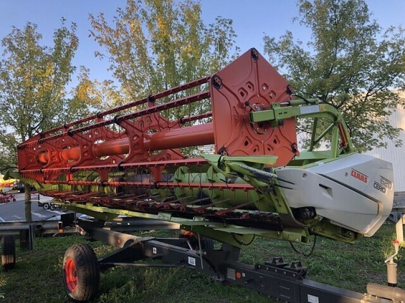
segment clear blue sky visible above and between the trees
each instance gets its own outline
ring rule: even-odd
[[[368,0],[367,3],[383,28],[405,23],[405,0]],[[126,0],[0,0],[0,38],[9,34],[12,26],[23,28],[30,21],[38,25],[37,30],[43,35],[42,43],[50,45],[53,31],[61,25],[61,17],[64,17],[67,22],[77,25],[79,46],[73,65],[85,65],[93,79],[109,79],[108,62],[94,56],[94,51],[100,50],[100,46],[89,37],[89,14],[102,12],[107,21],[112,21],[116,9],[125,8],[125,5]],[[201,0],[201,5],[206,24],[214,22],[217,16],[233,20],[236,45],[241,48],[241,53],[251,47],[263,53],[265,34],[279,37],[290,30],[294,37],[304,42],[310,38],[307,28],[293,22],[298,15],[295,0]]]

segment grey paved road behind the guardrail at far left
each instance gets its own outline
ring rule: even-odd
[[[37,195],[31,196],[31,214],[33,221],[47,220],[48,218],[56,219],[62,210],[44,210],[43,207],[38,207]],[[50,201],[52,198],[43,195],[39,196],[41,201]],[[16,194],[16,201],[9,202],[7,204],[0,204],[0,222],[9,221],[25,221],[25,205],[24,205],[24,193]]]

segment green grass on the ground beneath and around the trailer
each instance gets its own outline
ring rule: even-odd
[[[394,231],[393,225],[384,225],[372,238],[363,238],[354,245],[318,237],[315,251],[308,258],[297,255],[288,242],[257,238],[242,250],[241,262],[255,264],[277,256],[287,261],[299,259],[308,267],[309,279],[365,292],[367,282],[386,280],[383,260],[393,251]],[[137,234],[176,236],[167,231]],[[0,269],[0,293],[5,296],[0,303],[67,301],[61,268],[66,248],[74,243],[86,240],[79,235],[36,238],[35,251],[21,251],[17,242],[16,268],[11,272]],[[114,249],[101,242],[91,244],[97,256]],[[403,252],[400,254],[396,262],[398,283],[403,287],[405,266]],[[97,302],[276,302],[247,288],[212,283],[208,276],[186,269],[114,268],[101,275],[100,292]]]

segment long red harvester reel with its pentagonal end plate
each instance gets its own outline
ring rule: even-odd
[[[208,81],[209,91],[186,92]],[[297,141],[295,119],[286,119],[284,125],[273,128],[265,122],[251,124],[249,114],[252,110],[267,110],[274,103],[289,100],[287,86],[287,81],[252,49],[214,76],[182,84],[28,139],[18,146],[18,167],[26,177],[55,184],[75,184],[72,183],[76,182],[73,172],[93,170],[100,175],[99,182],[107,185],[108,173],[118,165],[141,168],[140,164],[145,163],[154,181],[159,182],[163,169],[171,163],[196,163],[185,160],[178,148],[206,144],[215,144],[216,151],[222,148],[224,154],[231,156],[277,156],[276,165],[284,166],[298,155],[292,151],[292,145]],[[203,89],[206,87],[201,87]],[[178,97],[174,98],[174,95]],[[156,102],[163,97],[168,97],[166,103]],[[208,98],[212,112],[190,112],[190,116],[174,120],[165,116],[169,109],[176,111],[177,107]],[[147,108],[126,112],[114,119],[105,117],[145,103]],[[213,122],[187,126],[189,122],[210,117]],[[112,130],[113,123],[118,125],[119,131]],[[74,126],[76,128],[70,129]],[[66,175],[67,181],[56,181],[61,174]]]

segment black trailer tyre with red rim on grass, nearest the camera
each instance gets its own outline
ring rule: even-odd
[[[76,302],[88,301],[98,294],[100,269],[93,248],[87,244],[70,246],[63,258],[63,285],[67,296]]]

